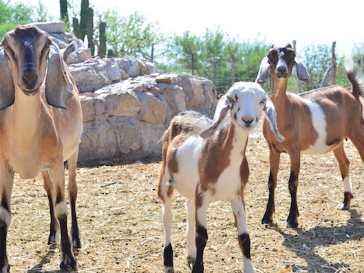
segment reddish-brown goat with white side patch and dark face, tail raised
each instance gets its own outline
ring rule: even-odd
[[[291,206],[286,226],[296,228],[297,186],[301,154],[319,155],[334,152],[339,163],[344,184],[344,201],[341,209],[349,209],[353,197],[349,175],[350,162],[345,155],[343,140],[350,139],[364,160],[364,125],[363,107],[359,96],[363,96],[361,86],[354,74],[352,60],[345,61],[347,78],[352,90],[341,86],[323,87],[299,95],[287,89],[292,67],[297,66],[298,77],[309,81],[303,63],[288,44],[286,47],[270,47],[268,56],[261,61],[257,83],[264,83],[268,69],[272,75],[271,99],[277,111],[277,125],[285,136],[284,142],[278,142],[270,132],[269,124],[264,122],[263,133],[270,151],[270,175],[268,179],[269,199],[262,223],[270,223],[275,212],[275,188],[281,153],[290,155],[290,179],[288,182]]]

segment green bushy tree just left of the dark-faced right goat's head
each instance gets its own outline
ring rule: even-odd
[[[206,28],[203,35],[186,31],[175,35],[169,47],[169,71],[178,70],[213,80],[218,92],[231,87],[232,81],[254,81],[268,45],[264,39],[239,42],[220,27]],[[233,73],[233,74],[232,74]]]

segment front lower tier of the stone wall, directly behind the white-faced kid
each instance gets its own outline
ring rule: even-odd
[[[84,129],[79,160],[160,157],[171,118],[194,109],[212,117],[217,100],[206,78],[152,74],[81,94]]]

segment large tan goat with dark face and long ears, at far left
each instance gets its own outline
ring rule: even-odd
[[[80,248],[76,219],[76,163],[83,118],[74,79],[50,36],[34,26],[18,26],[0,47],[0,272],[10,266],[6,237],[14,172],[30,179],[39,172],[50,200],[49,242],[61,233],[62,270],[76,270],[73,248]],[[71,240],[67,232],[65,166],[72,208]]]

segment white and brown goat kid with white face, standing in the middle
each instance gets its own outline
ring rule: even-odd
[[[162,137],[162,166],[158,197],[163,203],[164,270],[173,272],[171,246],[173,190],[186,197],[187,259],[193,272],[203,272],[202,255],[207,241],[206,212],[213,200],[231,202],[243,253],[244,272],[254,272],[246,227],[244,187],[249,169],[245,157],[248,133],[266,112],[279,141],[275,109],[257,83],[235,83],[222,96],[211,121],[195,111],[175,116]],[[226,113],[230,121],[220,126]],[[196,231],[196,234],[195,234]]]

